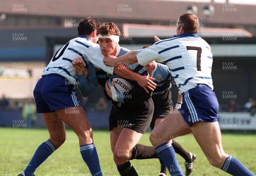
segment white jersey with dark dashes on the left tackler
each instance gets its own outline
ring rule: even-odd
[[[101,68],[108,74],[113,74],[113,67],[106,66],[102,61],[104,56],[100,51],[99,44],[91,42],[85,35],[79,35],[54,54],[52,60],[44,68],[42,75],[60,74],[70,82],[75,83],[77,80],[76,68],[73,67],[72,61],[77,57],[83,59],[85,67],[89,62],[92,62],[96,68]]]

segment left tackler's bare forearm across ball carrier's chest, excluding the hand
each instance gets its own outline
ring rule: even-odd
[[[126,78],[126,79],[131,79],[133,81],[137,81],[138,77],[140,77],[139,74],[135,73],[134,71],[131,71],[125,65],[116,65],[114,67],[113,74],[116,74],[116,75]]]

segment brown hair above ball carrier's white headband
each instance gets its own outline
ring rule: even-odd
[[[97,35],[118,35],[120,36],[120,30],[115,23],[103,23],[97,31]]]

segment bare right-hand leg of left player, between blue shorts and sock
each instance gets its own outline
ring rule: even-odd
[[[92,138],[90,124],[81,106],[73,106],[69,111],[55,110],[55,113],[79,136]]]

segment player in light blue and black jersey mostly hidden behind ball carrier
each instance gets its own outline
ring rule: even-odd
[[[154,37],[155,41],[160,41],[156,36]],[[147,48],[150,45],[145,45],[143,48]],[[151,61],[147,65],[145,65],[150,77],[154,78],[154,81],[157,86],[155,90],[152,92],[152,100],[154,102],[154,114],[150,123],[150,128],[153,130],[157,125],[159,125],[163,120],[171,113],[172,107],[172,92],[171,87],[174,84],[173,77],[169,71],[167,65],[162,63]],[[180,94],[177,95],[177,103],[175,105],[175,111],[178,111],[182,104],[182,96]],[[172,111],[173,112],[173,111]],[[189,176],[193,169],[193,162],[196,159],[196,155],[187,152],[177,141],[172,140],[172,147],[175,150],[175,153],[178,153],[185,159],[185,167],[186,167],[186,176]],[[160,176],[166,176],[166,165],[164,165],[163,161],[160,159],[161,170]]]

